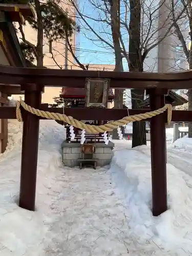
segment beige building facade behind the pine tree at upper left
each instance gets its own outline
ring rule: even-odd
[[[75,20],[75,10],[74,7],[68,5],[66,3],[61,3],[61,8],[68,13],[68,16]],[[37,32],[31,28],[29,24],[24,26],[25,37],[28,41],[32,42],[32,44],[36,45]],[[21,36],[18,33],[18,38]],[[70,40],[70,44],[74,49],[76,46],[76,34],[74,33]],[[86,66],[88,63],[83,64]],[[70,51],[68,51],[66,41],[58,40],[57,42],[52,42],[50,46],[49,41],[44,38],[44,66],[50,69],[74,69],[80,70],[81,68],[75,63],[74,57]],[[113,71],[114,65],[89,65],[89,70],[105,70],[105,71]],[[64,81],[65,82],[65,81]],[[66,86],[63,83],[63,86]],[[62,87],[45,87],[45,92],[42,94],[42,102],[43,103],[53,103],[54,97],[58,97]],[[20,95],[15,95],[14,98],[18,99]]]

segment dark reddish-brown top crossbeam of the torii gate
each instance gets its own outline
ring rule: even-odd
[[[0,82],[6,84],[30,83],[51,87],[84,88],[85,79],[110,78],[111,88],[156,88],[156,89],[192,89],[192,71],[176,73],[150,72],[111,72],[111,71],[84,71],[84,70],[57,70],[18,68],[0,66]]]

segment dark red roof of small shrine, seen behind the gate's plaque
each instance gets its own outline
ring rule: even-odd
[[[85,98],[86,97],[86,89],[84,88],[65,88],[63,87],[62,92],[60,94],[62,98]],[[113,90],[109,89],[109,99],[114,99]]]

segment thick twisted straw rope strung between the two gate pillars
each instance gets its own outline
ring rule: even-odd
[[[16,103],[16,118],[19,122],[23,121],[22,119],[22,114],[20,112],[20,105],[28,112],[44,117],[47,119],[54,119],[54,120],[59,120],[66,122],[74,127],[77,127],[80,130],[85,130],[89,134],[98,134],[98,133],[104,133],[104,132],[111,132],[114,129],[117,129],[118,126],[123,126],[129,122],[134,122],[134,121],[140,121],[140,120],[145,120],[148,118],[152,118],[154,116],[160,115],[163,112],[167,110],[167,123],[170,124],[170,121],[172,120],[172,105],[170,104],[165,104],[163,108],[147,112],[144,114],[139,114],[139,115],[134,115],[134,116],[126,116],[120,120],[109,122],[103,125],[91,125],[91,124],[85,124],[82,123],[81,121],[78,121],[74,119],[72,116],[66,116],[65,114],[59,114],[59,113],[51,113],[48,111],[42,111],[38,109],[34,109],[28,104],[26,104],[21,98],[20,101],[17,101]]]

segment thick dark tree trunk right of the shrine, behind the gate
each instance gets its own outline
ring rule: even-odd
[[[141,4],[140,0],[130,0],[130,38],[129,70],[143,71],[143,59],[140,49]],[[144,90],[131,90],[132,109],[139,109],[138,104],[144,100]],[[146,145],[145,121],[133,122],[132,147]]]

